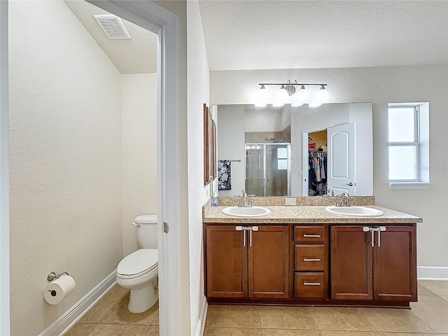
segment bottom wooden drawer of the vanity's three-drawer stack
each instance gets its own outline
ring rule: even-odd
[[[325,299],[324,273],[295,273],[294,297]]]

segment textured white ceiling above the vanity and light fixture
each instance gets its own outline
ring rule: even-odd
[[[447,64],[448,1],[200,0],[210,70]]]

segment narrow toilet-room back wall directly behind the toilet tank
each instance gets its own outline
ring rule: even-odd
[[[121,80],[123,255],[139,248],[135,216],[157,214],[157,73]]]

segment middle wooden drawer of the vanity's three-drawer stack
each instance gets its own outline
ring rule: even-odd
[[[325,245],[295,244],[294,260],[296,271],[325,270]]]

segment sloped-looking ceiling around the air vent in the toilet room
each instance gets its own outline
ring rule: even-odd
[[[157,36],[155,34],[122,19],[131,39],[111,40],[93,18],[94,14],[109,14],[109,12],[82,0],[64,0],[64,2],[97,41],[118,71],[123,74],[157,72]]]

